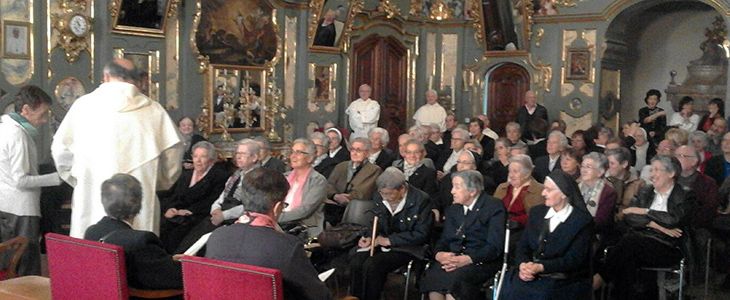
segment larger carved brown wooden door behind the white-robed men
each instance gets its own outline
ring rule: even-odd
[[[378,126],[388,130],[390,149],[398,148],[398,136],[406,131],[408,55],[393,37],[370,35],[353,46],[350,101],[358,98],[358,88],[369,84],[371,98],[380,103]]]

